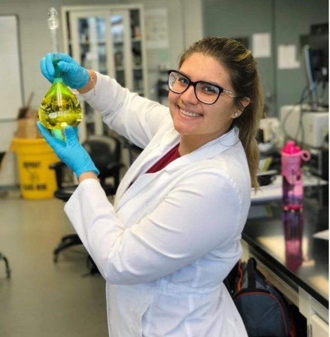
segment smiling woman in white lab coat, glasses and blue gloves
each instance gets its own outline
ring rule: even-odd
[[[65,212],[107,281],[109,335],[246,336],[222,281],[240,258],[251,184],[258,187],[263,102],[251,53],[225,38],[195,42],[169,73],[169,109],[61,60],[65,83],[144,149],[111,205],[73,129],[64,143],[39,123],[78,176]],[[41,70],[52,82],[51,55]]]

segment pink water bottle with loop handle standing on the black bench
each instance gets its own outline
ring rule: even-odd
[[[311,154],[301,150],[293,140],[287,141],[281,154],[283,208],[301,209],[303,207],[301,160],[310,160]]]

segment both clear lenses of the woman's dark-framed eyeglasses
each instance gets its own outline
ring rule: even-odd
[[[188,77],[174,73],[174,71],[169,75],[169,88],[176,93],[184,92],[190,83]],[[219,88],[206,82],[198,82],[195,87],[195,93],[199,101],[213,104],[219,97]]]

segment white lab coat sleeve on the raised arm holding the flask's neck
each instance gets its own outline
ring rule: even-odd
[[[109,76],[97,74],[95,91],[81,97],[103,116],[110,129],[144,149],[170,119],[169,109],[123,88]]]

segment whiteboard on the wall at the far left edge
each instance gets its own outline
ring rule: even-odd
[[[0,15],[0,123],[16,119],[22,106],[18,17]]]

